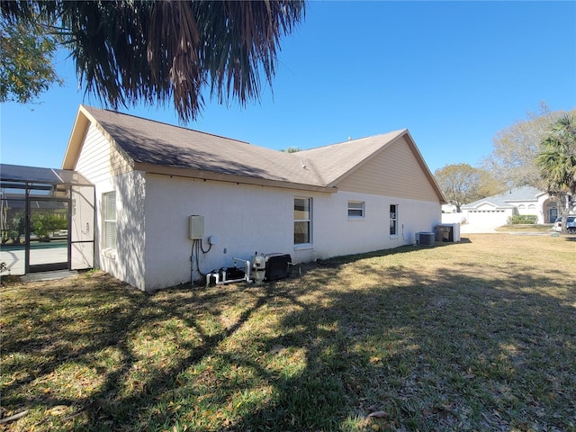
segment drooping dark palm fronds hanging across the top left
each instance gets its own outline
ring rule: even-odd
[[[60,25],[86,93],[113,109],[171,100],[184,122],[207,89],[220,103],[258,99],[304,10],[304,0],[0,2],[8,25]]]

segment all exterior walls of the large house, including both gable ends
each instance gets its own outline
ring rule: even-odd
[[[191,263],[195,254],[188,238],[193,214],[204,218],[204,250],[210,236],[217,238],[210,251],[197,254],[204,274],[255,252],[290,254],[293,262],[306,262],[414,244],[416,232],[434,231],[441,222],[441,204],[413,153],[404,147],[390,148],[356,170],[338,184],[338,193],[306,193],[135,171],[109,137],[92,125],[76,170],[95,185],[95,266],[146,291],[188,283],[193,268],[194,278],[200,278]],[[383,170],[391,157],[401,169]],[[407,172],[404,181],[401,176]],[[115,251],[101,247],[103,194],[110,192],[116,192]],[[293,244],[294,197],[311,198],[311,245]],[[365,202],[364,218],[348,218],[349,201]],[[391,204],[398,212],[393,236]]]

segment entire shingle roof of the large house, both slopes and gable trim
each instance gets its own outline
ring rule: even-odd
[[[121,153],[133,162],[135,169],[165,174],[161,168],[167,167],[181,170],[185,175],[209,173],[206,176],[211,175],[210,178],[215,179],[244,178],[249,179],[248,183],[262,181],[263,184],[283,187],[300,185],[302,188],[320,188],[331,192],[335,192],[340,178],[362,166],[372,155],[401,136],[407,135],[409,142],[413,143],[408,130],[396,130],[374,137],[285,153],[238,139],[81,105],[63,167],[74,167],[89,122],[95,122],[113,139]],[[415,145],[414,151],[421,159]],[[420,161],[428,173],[428,167],[423,160]],[[428,178],[434,183],[429,173]],[[442,193],[439,190],[437,193],[441,198]]]

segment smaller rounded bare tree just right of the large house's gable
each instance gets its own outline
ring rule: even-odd
[[[447,202],[453,204],[457,212],[465,203],[500,192],[491,175],[468,164],[446,165],[438,168],[434,176]]]

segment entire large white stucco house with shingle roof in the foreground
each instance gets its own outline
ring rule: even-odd
[[[80,106],[63,169],[95,185],[95,266],[147,291],[255,252],[413,244],[445,202],[408,130],[285,153]]]

